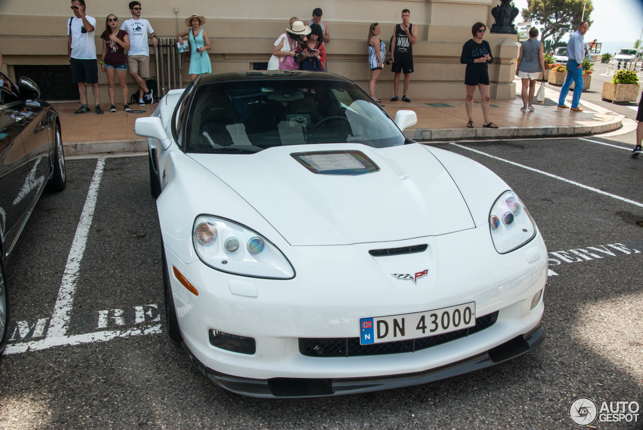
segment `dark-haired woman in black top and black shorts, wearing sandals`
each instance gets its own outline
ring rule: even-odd
[[[467,117],[469,122],[467,127],[473,128],[473,92],[476,87],[480,90],[482,97],[482,115],[484,116],[484,123],[482,126],[485,128],[498,128],[497,125],[489,121],[489,63],[493,63],[493,56],[491,55],[491,47],[489,42],[483,40],[487,26],[482,22],[476,22],[471,27],[471,34],[473,39],[467,40],[462,46],[462,55],[460,55],[460,63],[466,64],[467,69],[464,73],[464,85],[467,87],[467,98],[464,101],[464,106],[467,109]]]

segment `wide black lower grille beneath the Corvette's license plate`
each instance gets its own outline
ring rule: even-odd
[[[452,331],[426,338],[359,345],[359,338],[299,338],[299,352],[308,357],[357,357],[415,352],[464,338],[491,327],[498,320],[498,311],[476,318],[469,329]]]

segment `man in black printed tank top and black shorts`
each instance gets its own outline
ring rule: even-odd
[[[400,73],[404,72],[404,95],[403,101],[410,102],[408,98],[408,83],[413,73],[413,45],[417,42],[417,27],[409,22],[411,12],[408,9],[402,11],[402,23],[395,26],[393,31],[393,43],[391,58],[393,66],[391,71],[395,73],[393,78],[393,90],[395,95],[391,101],[397,101],[397,89],[400,85]]]

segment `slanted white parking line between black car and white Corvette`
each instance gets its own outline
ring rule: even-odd
[[[94,209],[96,208],[96,198],[98,197],[98,188],[100,187],[100,180],[103,177],[103,169],[105,168],[105,159],[98,159],[96,162],[96,170],[94,176],[91,178],[89,185],[89,192],[85,200],[85,205],[80,214],[80,221],[76,228],[76,234],[69,250],[69,257],[65,266],[64,274],[62,275],[62,282],[58,291],[58,298],[53,307],[53,314],[51,314],[51,323],[47,331],[48,338],[57,338],[67,335],[69,327],[69,312],[74,300],[74,293],[76,291],[76,281],[78,279],[78,271],[80,270],[80,262],[82,261],[83,254],[85,254],[85,246],[87,245],[87,234],[89,234],[89,227],[91,227],[91,220],[94,218]]]

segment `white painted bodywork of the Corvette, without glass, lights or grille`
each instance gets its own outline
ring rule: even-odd
[[[172,268],[180,271],[199,293],[170,275],[181,335],[200,365],[262,380],[401,375],[467,359],[539,327],[543,300],[534,309],[530,305],[547,282],[547,249],[536,228],[527,245],[496,252],[489,211],[511,188],[489,169],[421,144],[186,154],[173,141],[170,127],[180,95],[180,90],[170,92],[154,112],[171,143],[163,148],[150,138],[149,146],[161,182],[157,207],[167,266],[170,273]],[[290,155],[329,149],[361,151],[381,170],[361,176],[315,175]],[[194,220],[201,214],[231,219],[265,237],[289,260],[296,276],[244,277],[204,264],[192,244]],[[428,249],[386,257],[368,254],[418,244]],[[428,274],[417,284],[391,275],[425,269]],[[298,338],[359,337],[360,318],[471,301],[476,316],[499,311],[497,322],[412,354],[347,359],[303,356],[298,350]],[[257,352],[213,347],[210,330],[254,338]]]

